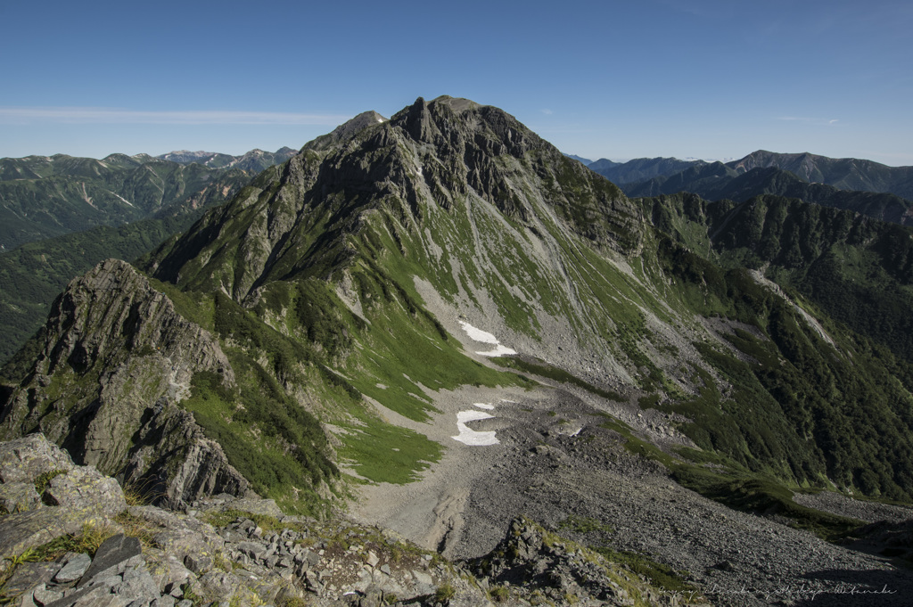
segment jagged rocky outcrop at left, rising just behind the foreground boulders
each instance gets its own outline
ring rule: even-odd
[[[176,406],[194,372],[234,383],[226,355],[129,264],[109,259],[73,280],[40,338],[32,371],[0,403],[0,437],[42,432],[80,464],[175,504],[247,490],[219,445]]]

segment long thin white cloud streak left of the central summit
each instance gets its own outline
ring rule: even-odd
[[[141,111],[116,108],[0,108],[0,122],[82,124],[317,124],[335,126],[351,116],[272,111]]]

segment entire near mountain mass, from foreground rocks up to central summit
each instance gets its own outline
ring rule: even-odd
[[[906,604],[911,236],[362,113],[5,365],[5,596]]]

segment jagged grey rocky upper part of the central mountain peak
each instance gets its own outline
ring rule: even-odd
[[[558,229],[599,246],[624,255],[639,250],[639,209],[504,110],[468,99],[418,98],[380,120],[364,112],[310,141],[278,183],[260,183],[268,189],[263,195],[211,215],[184,238],[180,252],[160,256],[153,271],[168,280],[180,275],[182,284],[215,286],[241,301],[278,277],[327,277],[347,267],[350,237],[379,215],[404,230],[396,235],[403,240],[424,230],[437,208],[456,221],[477,205],[493,221],[508,217],[542,233],[561,218]],[[324,226],[332,229],[323,233]],[[204,267],[182,269],[188,257],[216,246],[217,235],[217,246],[231,241],[225,254],[206,253]]]

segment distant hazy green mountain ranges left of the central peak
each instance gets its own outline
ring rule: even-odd
[[[294,153],[0,159],[0,361],[38,329],[70,278],[107,257],[141,256]]]

